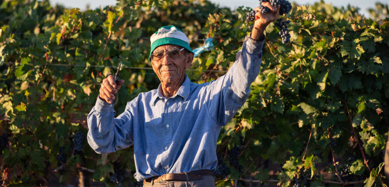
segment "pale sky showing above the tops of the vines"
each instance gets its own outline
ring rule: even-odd
[[[249,7],[258,6],[258,0],[210,0],[220,6],[228,6],[232,9],[243,5]],[[289,0],[293,2],[297,2],[298,4],[313,4],[319,0]],[[368,8],[373,8],[375,6],[375,2],[382,2],[384,4],[389,4],[389,0],[324,0],[327,3],[332,3],[335,6],[347,6],[351,4],[352,6],[357,6],[361,8],[361,13],[368,16],[369,13],[367,11]],[[85,9],[86,5],[89,4],[91,9],[94,9],[99,6],[106,5],[114,5],[116,4],[116,0],[50,0],[51,4],[62,4],[65,7],[78,7],[80,9]]]

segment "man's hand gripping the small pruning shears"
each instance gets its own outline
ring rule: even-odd
[[[124,85],[124,80],[117,80],[115,82],[114,79],[115,76],[113,75],[110,75],[107,78],[103,79],[99,91],[99,97],[110,104],[113,103],[113,101],[115,100],[115,95],[118,93],[120,87]]]

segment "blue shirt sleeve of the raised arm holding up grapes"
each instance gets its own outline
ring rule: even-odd
[[[217,125],[225,125],[244,104],[258,76],[264,40],[246,37],[230,70],[208,85],[206,106]]]

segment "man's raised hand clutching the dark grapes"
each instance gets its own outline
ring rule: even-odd
[[[278,4],[277,7],[274,7],[270,2],[262,2],[262,6],[268,7],[270,11],[263,14],[259,7],[254,9],[257,12],[255,13],[255,22],[251,32],[251,38],[256,40],[263,35],[263,31],[265,31],[267,25],[276,20],[280,14],[280,4]]]

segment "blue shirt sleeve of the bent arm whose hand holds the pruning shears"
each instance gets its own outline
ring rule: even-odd
[[[132,114],[127,103],[125,111],[115,118],[114,104],[97,98],[95,106],[87,117],[87,140],[91,148],[99,154],[112,153],[133,143]]]

